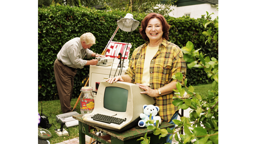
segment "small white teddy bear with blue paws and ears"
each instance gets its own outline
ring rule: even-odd
[[[156,121],[159,120],[159,125],[161,124],[161,118],[160,116],[156,116],[157,113],[159,112],[159,107],[158,106],[154,106],[154,105],[143,105],[143,113],[140,114],[140,118],[142,120],[140,120],[138,122],[138,126],[139,127],[147,127],[149,125],[153,125],[153,124],[146,124],[146,122],[149,119],[149,115],[152,114],[151,119],[154,119],[154,125],[156,125]]]

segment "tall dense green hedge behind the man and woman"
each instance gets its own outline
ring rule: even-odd
[[[132,13],[135,16],[135,13]],[[61,5],[51,5],[47,8],[38,8],[38,100],[58,99],[53,64],[61,47],[70,39],[80,37],[85,32],[91,32],[96,37],[96,44],[90,49],[96,53],[102,53],[107,42],[113,35],[120,17],[124,17],[125,12],[120,11],[100,11],[85,7],[70,7]],[[139,13],[138,21],[146,14]],[[194,46],[202,48],[201,52],[218,59],[212,46],[205,45],[206,37],[202,35],[205,29],[201,26],[203,19],[191,19],[189,17],[173,18],[166,17],[171,25],[169,41],[182,48],[187,41],[192,41]],[[140,27],[140,26],[139,26]],[[139,27],[132,32],[130,43],[132,48],[130,54],[138,46],[145,43],[139,34]],[[118,30],[113,41],[127,42],[130,33]],[[90,58],[92,59],[92,58]],[[89,59],[89,60],[90,60]],[[82,80],[89,75],[89,66],[78,69],[74,77],[73,98],[80,94]],[[191,71],[187,69],[189,85],[207,83],[209,79],[201,71]]]

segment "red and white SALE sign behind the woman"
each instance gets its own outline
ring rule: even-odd
[[[118,58],[118,54],[122,54],[122,59],[127,59],[129,57],[130,48],[132,47],[131,43],[123,43],[123,42],[114,42],[111,41],[107,47],[106,57]]]

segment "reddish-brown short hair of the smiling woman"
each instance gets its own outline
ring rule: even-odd
[[[157,18],[161,21],[162,23],[162,31],[163,31],[163,35],[162,38],[165,38],[166,40],[169,39],[169,29],[170,29],[170,25],[167,23],[167,21],[165,20],[165,18],[158,13],[149,13],[148,15],[145,16],[145,18],[141,21],[141,28],[139,29],[140,34],[142,35],[142,38],[145,41],[149,41],[149,38],[146,34],[146,28],[148,25],[148,21],[152,18]]]

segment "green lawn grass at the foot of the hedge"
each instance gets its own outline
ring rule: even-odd
[[[205,85],[198,85],[193,86],[194,92],[198,93],[200,95],[208,95],[208,90],[211,90],[211,84],[205,84]],[[184,88],[185,91],[187,91],[186,88]],[[71,100],[71,107],[75,105],[77,101],[77,98]],[[51,144],[60,143],[62,141],[66,141],[69,139],[73,139],[76,137],[79,137],[79,130],[78,126],[70,127],[67,129],[69,131],[69,135],[67,136],[61,136],[59,137],[57,134],[54,133],[54,129],[57,127],[57,129],[60,128],[60,123],[58,123],[55,119],[56,115],[62,114],[61,108],[60,108],[60,100],[53,100],[53,101],[42,101],[42,107],[43,107],[43,114],[45,114],[48,117],[49,123],[52,124],[51,128],[48,129],[52,137],[49,139],[49,142]],[[76,106],[77,112],[80,114],[80,102]],[[38,112],[41,114],[41,101],[38,102]],[[39,128],[41,128],[39,126]]]

